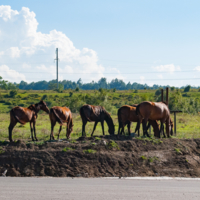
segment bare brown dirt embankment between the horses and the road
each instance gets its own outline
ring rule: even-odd
[[[76,141],[0,144],[7,176],[200,177],[200,139],[101,136]]]

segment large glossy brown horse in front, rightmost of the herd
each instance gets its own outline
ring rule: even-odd
[[[166,124],[167,137],[169,137],[169,134],[173,135],[173,122],[170,118],[170,110],[166,103],[144,101],[136,107],[136,114],[142,117],[144,123],[144,133],[147,136],[149,135],[147,133],[146,123],[149,119],[160,120],[161,126],[158,137],[160,137],[161,131],[164,130],[163,123]]]

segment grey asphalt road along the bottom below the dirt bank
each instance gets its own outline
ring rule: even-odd
[[[200,199],[199,180],[0,177],[0,199]]]

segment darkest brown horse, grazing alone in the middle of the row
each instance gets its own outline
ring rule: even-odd
[[[101,122],[103,135],[105,135],[105,133],[104,133],[104,120],[106,121],[106,123],[108,125],[109,134],[110,135],[115,134],[115,127],[114,127],[113,120],[112,120],[110,114],[105,110],[104,107],[86,104],[86,105],[84,105],[80,108],[80,115],[81,115],[82,122],[83,122],[82,136],[86,135],[85,125],[87,124],[88,121],[89,122],[95,122],[91,136],[93,136],[93,133],[96,129],[98,122]]]

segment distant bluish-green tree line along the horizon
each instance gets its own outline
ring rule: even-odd
[[[59,81],[59,90],[65,89],[82,89],[82,90],[95,90],[95,89],[116,89],[116,90],[143,90],[143,89],[159,89],[159,88],[166,88],[170,87],[169,85],[161,86],[154,84],[153,86],[149,86],[147,84],[140,84],[140,83],[130,83],[127,84],[120,79],[113,79],[111,82],[108,82],[106,78],[101,78],[97,82],[90,82],[90,83],[83,83],[81,78],[75,82],[70,80],[63,80]],[[191,87],[191,86],[190,86]],[[57,82],[56,80],[51,81],[38,81],[38,82],[31,82],[27,83],[25,81],[21,81],[19,84],[17,83],[10,83],[0,76],[0,88],[3,90],[13,90],[13,89],[21,89],[21,90],[55,90],[57,89]],[[185,88],[185,87],[181,87]],[[191,88],[198,88],[198,87],[191,87]]]

